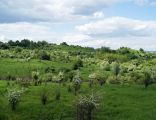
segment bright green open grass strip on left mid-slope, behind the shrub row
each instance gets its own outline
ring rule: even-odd
[[[28,77],[31,76],[32,71],[38,70],[43,73],[46,67],[60,69],[62,67],[71,68],[71,63],[64,63],[61,61],[40,61],[31,60],[29,62],[23,59],[0,59],[0,76],[6,77],[7,75]]]

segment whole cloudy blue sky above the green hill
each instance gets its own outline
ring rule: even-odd
[[[0,41],[156,50],[156,0],[0,0]]]

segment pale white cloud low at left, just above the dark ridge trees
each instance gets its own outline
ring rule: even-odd
[[[34,41],[48,40],[57,42],[56,33],[50,27],[42,24],[26,22],[0,24],[0,41],[31,39]]]

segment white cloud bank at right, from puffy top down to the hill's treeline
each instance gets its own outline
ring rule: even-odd
[[[67,42],[82,46],[127,46],[135,49],[156,48],[156,21],[141,21],[123,17],[105,18],[76,26],[79,34],[67,35]]]

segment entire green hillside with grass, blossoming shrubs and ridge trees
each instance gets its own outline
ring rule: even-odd
[[[155,72],[143,49],[0,42],[0,120],[153,120]]]

